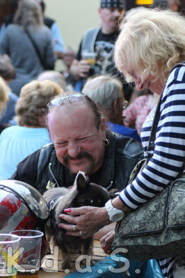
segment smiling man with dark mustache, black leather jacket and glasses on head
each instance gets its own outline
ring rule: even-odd
[[[52,144],[26,157],[11,177],[41,193],[54,186],[70,187],[79,171],[86,172],[90,182],[120,191],[143,158],[141,144],[107,130],[93,100],[82,93],[68,92],[51,100],[47,128]]]

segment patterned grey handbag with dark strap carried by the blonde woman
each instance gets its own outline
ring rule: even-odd
[[[136,164],[129,183],[152,156],[160,105],[161,98],[156,107],[147,159]],[[113,249],[120,247],[124,248],[124,257],[137,260],[185,256],[185,173],[117,223]]]

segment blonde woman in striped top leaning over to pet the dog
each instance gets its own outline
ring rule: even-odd
[[[82,238],[88,238],[111,223],[114,208],[122,214],[119,220],[123,219],[124,214],[150,201],[184,171],[185,65],[173,68],[185,61],[184,41],[185,19],[171,10],[145,8],[131,13],[123,20],[115,43],[116,67],[124,74],[127,82],[135,82],[138,91],[148,88],[161,95],[154,152],[136,179],[104,208],[83,206],[64,210],[65,214],[59,217],[65,221],[60,226],[67,235],[79,236],[81,231]],[[154,111],[155,108],[147,116],[141,131],[145,158]],[[111,206],[111,210],[108,210],[108,206]],[[114,235],[113,230],[102,238],[102,246],[106,250],[111,250]],[[184,258],[163,258],[159,263],[164,277],[185,276]]]

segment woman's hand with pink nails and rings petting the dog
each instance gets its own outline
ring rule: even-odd
[[[59,228],[66,230],[66,235],[88,238],[103,226],[110,224],[106,208],[82,206],[80,208],[66,208],[66,214],[59,217],[69,224],[60,223]]]

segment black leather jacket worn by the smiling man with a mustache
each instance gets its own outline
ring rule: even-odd
[[[104,162],[90,176],[90,181],[108,190],[122,190],[136,162],[143,158],[143,147],[134,139],[120,134],[107,134],[107,138],[109,145],[106,146]],[[29,183],[43,193],[54,184],[69,187],[75,176],[58,161],[54,145],[48,144],[20,162],[11,178]]]

